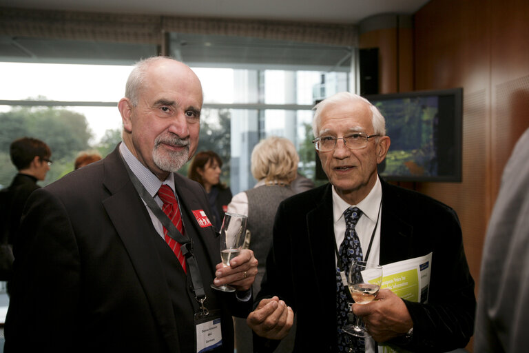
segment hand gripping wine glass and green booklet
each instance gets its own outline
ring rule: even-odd
[[[402,336],[413,327],[404,301],[387,289],[380,290],[371,303],[353,304],[353,313],[362,317],[366,330],[377,342]]]

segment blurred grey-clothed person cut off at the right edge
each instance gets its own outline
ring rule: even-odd
[[[504,168],[485,238],[474,352],[527,352],[529,129]]]

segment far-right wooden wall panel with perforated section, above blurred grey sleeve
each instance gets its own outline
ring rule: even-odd
[[[491,194],[516,141],[529,127],[529,1],[492,1]]]

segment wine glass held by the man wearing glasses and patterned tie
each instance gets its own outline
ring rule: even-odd
[[[367,304],[375,299],[380,285],[382,285],[382,266],[365,261],[353,261],[347,284],[353,300],[357,304]],[[348,324],[342,329],[345,333],[357,337],[369,337],[371,334],[365,330],[360,316],[356,316],[354,324]]]

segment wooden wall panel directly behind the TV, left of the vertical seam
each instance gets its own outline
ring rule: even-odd
[[[492,202],[490,10],[478,3],[433,0],[415,14],[415,89],[464,90],[462,181],[418,183],[417,190],[456,210],[476,293]]]

